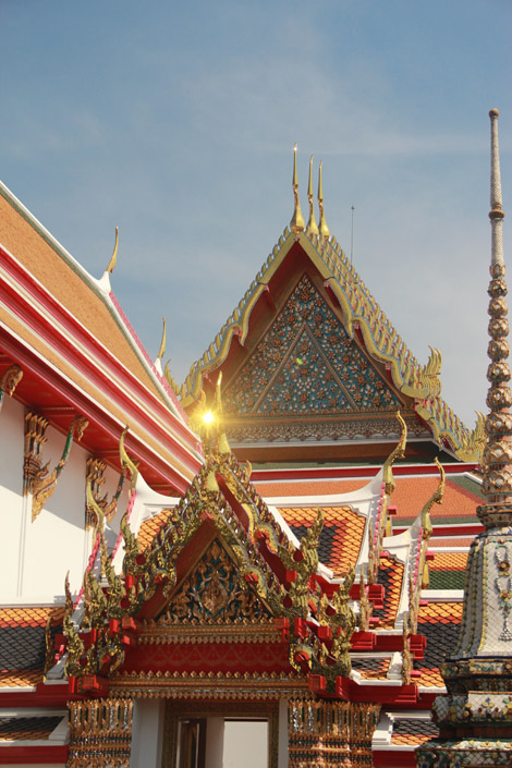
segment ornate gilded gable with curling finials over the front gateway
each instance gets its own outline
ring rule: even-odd
[[[221,407],[219,382],[218,416]],[[232,618],[244,636],[249,617],[264,625],[269,618],[282,619],[288,626],[285,642],[292,668],[303,673],[321,672],[332,686],[337,675],[349,673],[350,637],[355,625],[349,593],[354,571],[328,598],[315,578],[321,512],[317,512],[296,548],[248,481],[247,471],[223,451],[222,437],[220,420],[207,442],[204,466],[144,552],[130,531],[127,513],[124,515],[121,531],[125,557],[120,575],[113,571],[102,533],[103,519],[96,510],[101,569],[99,573],[94,569],[86,573],[78,627],[73,624],[73,607],[68,601],[68,675],[110,675],[120,669],[129,642],[124,627],[153,598],[160,613],[168,607],[164,624],[171,632],[174,624],[169,623],[169,615],[176,617],[179,623],[181,618],[184,626],[195,620],[198,625],[216,626],[221,620],[224,627]],[[176,585],[178,558],[206,520],[214,524],[218,540]],[[282,650],[276,654],[273,663],[278,663]],[[167,658],[169,661],[171,657]]]

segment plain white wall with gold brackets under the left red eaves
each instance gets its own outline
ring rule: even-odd
[[[62,455],[65,435],[48,427],[42,463],[51,472]],[[23,497],[25,409],[5,398],[0,412],[0,525],[3,537],[0,558],[0,601],[7,604],[53,602],[64,595],[65,574],[76,593],[92,549],[92,532],[85,531],[85,480],[89,453],[73,441],[57,488],[32,522],[32,497]],[[119,475],[108,468],[103,493],[115,491]],[[125,481],[112,521],[119,521],[127,504]]]

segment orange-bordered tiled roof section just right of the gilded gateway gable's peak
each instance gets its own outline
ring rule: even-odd
[[[320,562],[341,576],[355,565],[359,556],[366,519],[351,507],[322,507],[324,528],[318,554]],[[317,516],[317,507],[279,508],[295,536],[301,539]]]

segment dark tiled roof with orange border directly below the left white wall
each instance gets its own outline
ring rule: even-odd
[[[46,657],[45,627],[62,632],[64,608],[0,609],[0,687],[37,685],[42,680]]]

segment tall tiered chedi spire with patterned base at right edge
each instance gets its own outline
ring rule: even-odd
[[[439,739],[416,753],[419,768],[512,766],[512,394],[504,279],[498,110],[489,112],[491,280],[488,289],[490,383],[484,451],[485,527],[470,551],[459,645],[442,668],[447,695],[434,719]]]

